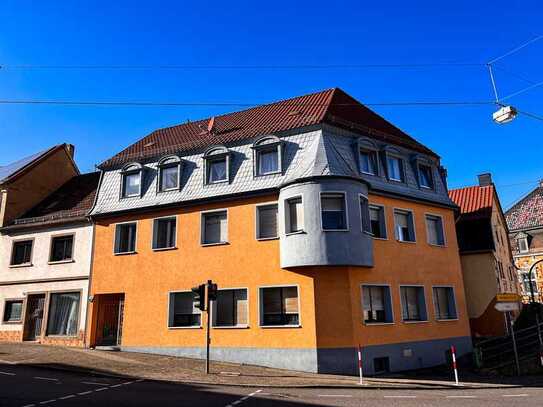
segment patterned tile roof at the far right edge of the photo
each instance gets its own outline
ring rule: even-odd
[[[543,182],[506,213],[509,230],[543,227]]]

